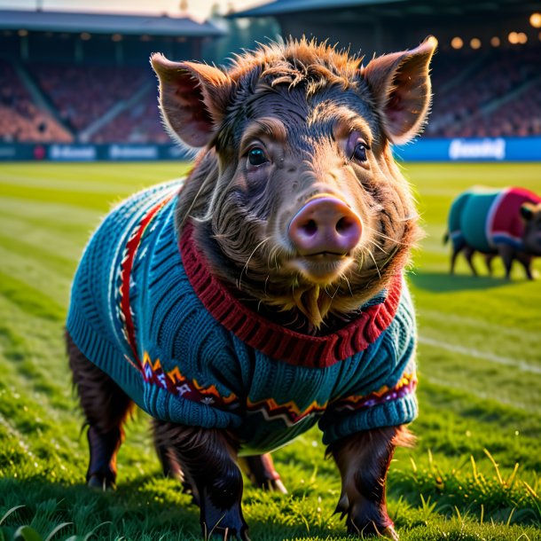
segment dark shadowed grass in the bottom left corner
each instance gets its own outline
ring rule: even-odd
[[[35,477],[25,480],[0,480],[0,518],[15,506],[24,506],[4,521],[3,527],[14,532],[20,525],[31,524],[43,538],[60,523],[73,525],[63,529],[63,537],[70,533],[85,536],[99,528],[100,539],[153,538],[157,531],[165,538],[199,539],[199,513],[190,499],[173,490],[172,484],[156,483],[153,477],[124,482],[118,490],[99,492],[83,483],[65,484]],[[181,503],[182,501],[182,503]],[[171,505],[174,502],[174,505]],[[181,537],[179,537],[181,536]],[[11,537],[7,537],[10,539]]]

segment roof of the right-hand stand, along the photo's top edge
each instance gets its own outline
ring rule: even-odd
[[[287,13],[318,12],[364,7],[366,15],[416,16],[465,15],[473,12],[496,13],[538,11],[538,0],[275,0],[229,17],[266,17]]]

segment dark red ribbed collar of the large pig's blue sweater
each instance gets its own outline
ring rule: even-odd
[[[400,275],[393,278],[384,302],[366,308],[340,331],[309,336],[277,325],[239,302],[210,274],[204,255],[193,243],[192,231],[192,223],[186,223],[179,248],[195,293],[228,331],[269,357],[312,368],[331,366],[366,349],[395,317],[402,291]]]

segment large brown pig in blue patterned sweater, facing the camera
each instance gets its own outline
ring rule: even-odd
[[[164,122],[201,151],[184,180],[115,208],[74,278],[90,486],[114,486],[135,403],[203,532],[247,539],[238,464],[285,491],[269,452],[318,423],[349,532],[397,538],[385,481],[417,412],[403,273],[418,216],[390,145],[426,120],[434,51],[363,66],[302,39],[229,71],[153,55]]]

